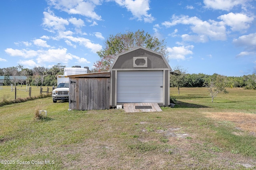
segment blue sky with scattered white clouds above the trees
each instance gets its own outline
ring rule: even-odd
[[[256,73],[256,0],[1,0],[0,68],[93,67],[110,34],[164,39],[172,68]]]

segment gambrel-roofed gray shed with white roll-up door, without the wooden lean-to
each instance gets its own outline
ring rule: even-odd
[[[144,47],[120,53],[110,67],[110,106],[124,103],[170,105],[170,71],[161,53]]]

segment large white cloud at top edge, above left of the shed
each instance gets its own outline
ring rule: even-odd
[[[48,0],[48,3],[68,14],[79,14],[94,20],[101,20],[101,16],[94,12],[95,7],[101,4],[101,0]]]

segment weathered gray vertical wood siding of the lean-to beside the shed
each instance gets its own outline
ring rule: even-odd
[[[70,78],[69,108],[109,109],[110,78]]]

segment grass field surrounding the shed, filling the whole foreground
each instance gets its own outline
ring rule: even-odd
[[[0,169],[255,169],[256,90],[228,91],[212,103],[206,88],[171,88],[177,105],[153,113],[68,111],[51,98],[2,106]],[[47,117],[35,121],[36,109]]]

